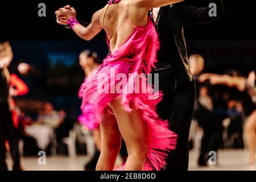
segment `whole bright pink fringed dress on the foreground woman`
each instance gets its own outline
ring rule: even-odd
[[[108,38],[107,43],[109,45]],[[156,113],[156,105],[162,99],[162,93],[154,92],[152,87],[147,89],[146,93],[138,92],[138,89],[143,89],[143,84],[140,82],[139,85],[134,85],[134,78],[136,77],[134,75],[151,72],[151,68],[156,63],[158,49],[158,34],[154,24],[148,18],[146,26],[134,27],[133,33],[126,42],[116,51],[109,53],[98,72],[88,77],[81,85],[79,92],[79,96],[82,98],[81,107],[90,103],[95,109],[95,119],[98,123],[101,122],[104,113],[108,111],[106,110],[108,104],[117,97],[121,97],[122,106],[126,111],[132,111],[131,105],[138,110],[142,122],[146,123],[148,152],[144,170],[160,170],[164,167],[168,156],[167,152],[175,149],[177,139],[177,135],[169,129],[168,122],[160,119]],[[112,92],[118,84],[115,78],[118,73],[127,76],[123,90],[132,88],[133,93]],[[133,73],[133,76],[129,77],[129,73]],[[112,81],[113,79],[115,81]],[[141,80],[147,82],[147,77],[144,76]],[[107,92],[99,92],[99,85],[104,85],[104,90]]]

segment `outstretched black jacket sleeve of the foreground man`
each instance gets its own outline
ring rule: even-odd
[[[224,18],[225,11],[222,0],[210,1],[217,5],[217,16],[209,16],[211,7],[180,6],[183,15],[183,25],[210,23]]]

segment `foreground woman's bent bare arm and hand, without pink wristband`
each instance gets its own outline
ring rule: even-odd
[[[73,9],[73,7],[71,7],[70,9],[63,8],[63,9],[60,9],[60,11],[61,11],[61,14],[63,14],[63,16],[65,16],[67,19],[76,18],[76,10]],[[101,13],[102,13],[102,9],[96,11],[96,13],[94,13],[92,16],[92,21],[89,23],[87,27],[82,26],[80,23],[75,24],[75,26],[72,27],[73,31],[82,39],[85,39],[85,40],[93,39],[94,36],[96,36],[102,30],[101,23],[100,23]],[[60,22],[59,24],[61,23],[62,22]]]

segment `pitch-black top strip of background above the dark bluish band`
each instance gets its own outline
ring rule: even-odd
[[[38,4],[44,2],[47,6],[47,16],[38,16]],[[77,10],[77,18],[88,21],[94,11],[104,7],[104,0],[23,0],[1,1],[1,36],[11,39],[71,39],[73,34],[67,34],[55,23],[54,11],[64,5],[71,5]],[[186,35],[191,39],[255,39],[256,16],[255,1],[224,0],[225,19],[212,24],[188,28]],[[180,5],[204,7],[208,0],[185,0]],[[201,30],[203,28],[203,30]]]

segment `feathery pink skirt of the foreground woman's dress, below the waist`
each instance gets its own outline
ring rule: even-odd
[[[93,118],[97,123],[101,122],[108,104],[117,97],[121,97],[122,106],[127,112],[132,111],[130,106],[135,107],[142,122],[146,123],[148,153],[144,169],[160,170],[166,165],[167,152],[175,149],[177,135],[169,129],[168,122],[162,121],[156,113],[156,105],[161,100],[162,93],[154,92],[154,89],[150,86],[147,87],[147,92],[143,93],[144,85],[142,83],[147,82],[147,77],[141,77],[139,84],[135,84],[134,80],[138,75],[131,74],[129,76],[129,73],[134,73],[133,69],[133,62],[127,59],[111,63],[108,62],[107,58],[98,72],[88,77],[82,84],[79,94],[83,98],[82,107],[86,108],[88,103],[92,105],[92,108],[94,108]],[[118,73],[122,73],[123,76],[128,78],[126,84],[122,87],[121,93],[117,93],[117,90],[112,92],[112,89],[116,88],[118,84],[116,79]],[[125,90],[130,91],[125,92]],[[92,110],[85,110],[85,115],[86,112],[92,114]]]

